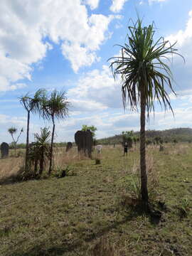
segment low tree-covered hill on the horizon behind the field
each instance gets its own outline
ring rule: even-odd
[[[134,132],[139,137],[139,132]],[[147,130],[146,139],[153,140],[155,137],[161,137],[164,142],[173,142],[176,139],[178,142],[192,142],[192,129],[191,128],[175,128],[166,130]],[[119,144],[122,142],[122,134],[114,135],[104,139],[97,139],[101,144]]]

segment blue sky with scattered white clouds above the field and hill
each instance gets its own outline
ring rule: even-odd
[[[164,36],[186,58],[174,58],[175,117],[156,108],[147,129],[192,125],[192,1],[191,0],[1,0],[0,17],[0,142],[11,142],[7,129],[23,127],[26,112],[18,98],[39,88],[65,90],[72,103],[70,117],[56,123],[55,141],[73,141],[82,124],[97,127],[97,138],[139,130],[139,113],[124,111],[121,86],[114,82],[107,59],[114,44],[126,43],[130,19],[156,24],[155,38]],[[31,117],[34,132],[51,123]]]

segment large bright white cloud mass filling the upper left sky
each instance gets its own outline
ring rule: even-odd
[[[85,4],[97,8],[99,0],[1,1],[0,90],[17,88],[16,81],[31,79],[31,64],[38,63],[53,46],[61,52],[75,72],[100,60],[96,51],[109,37],[108,26],[114,16],[87,13]]]

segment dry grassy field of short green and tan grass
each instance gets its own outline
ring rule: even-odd
[[[58,149],[50,178],[1,183],[0,255],[191,256],[192,146],[165,147],[147,149],[159,221],[137,208],[138,148],[123,157],[120,146],[105,146],[98,165],[79,160],[75,149]],[[22,161],[1,159],[1,179]],[[56,178],[61,168],[68,176]]]

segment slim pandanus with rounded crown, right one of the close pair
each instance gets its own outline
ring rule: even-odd
[[[70,102],[64,91],[53,90],[49,97],[43,100],[41,115],[44,119],[50,119],[53,122],[53,129],[50,143],[50,162],[48,174],[50,175],[53,168],[53,141],[55,135],[55,119],[65,119],[68,117]]]

